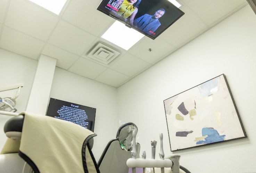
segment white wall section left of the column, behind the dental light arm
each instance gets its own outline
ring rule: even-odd
[[[20,90],[20,95],[16,99],[17,113],[26,110],[36,66],[36,60],[0,49],[0,86],[24,83],[24,86]],[[0,92],[0,97],[13,97],[16,94],[16,91],[17,90],[15,89]],[[3,132],[3,126],[10,118],[11,116],[0,115],[0,149],[7,139]]]

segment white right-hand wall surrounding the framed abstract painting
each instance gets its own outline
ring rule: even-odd
[[[256,171],[256,15],[249,5],[118,88],[119,119],[140,129],[140,151],[164,135],[165,155],[193,173]],[[248,138],[171,152],[163,100],[225,74]],[[157,151],[160,149],[157,145]],[[158,156],[157,156],[158,157]]]

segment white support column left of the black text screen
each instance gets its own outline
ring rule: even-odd
[[[41,55],[27,103],[27,112],[45,115],[57,59]]]

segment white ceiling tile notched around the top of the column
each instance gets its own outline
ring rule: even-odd
[[[78,55],[67,52],[63,49],[47,44],[42,54],[58,59],[56,66],[67,70],[78,58]]]

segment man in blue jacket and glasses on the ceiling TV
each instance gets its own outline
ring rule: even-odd
[[[142,30],[144,33],[155,35],[155,30],[161,25],[159,18],[165,13],[163,8],[157,10],[154,15],[144,14],[143,16],[134,19],[133,25]]]

